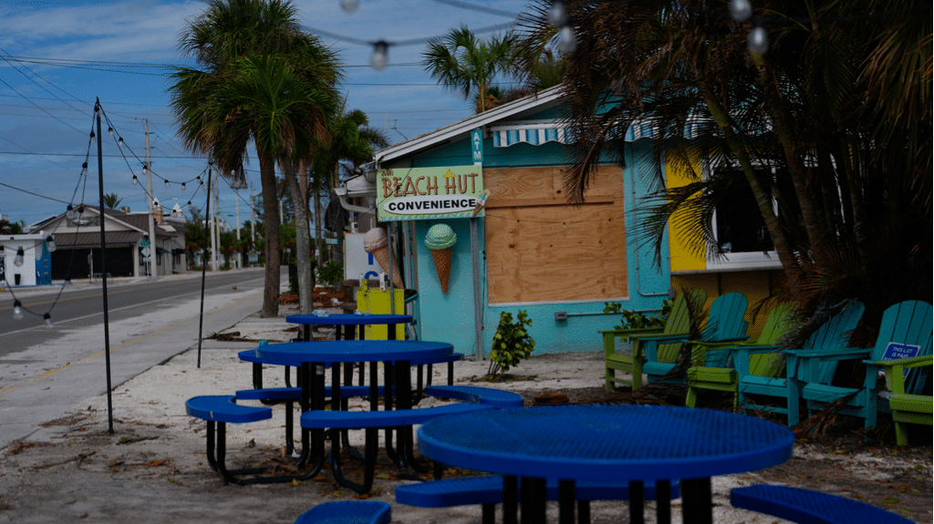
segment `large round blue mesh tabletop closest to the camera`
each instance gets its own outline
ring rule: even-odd
[[[428,421],[426,457],[511,476],[575,481],[705,478],[787,461],[785,426],[711,409],[558,406],[489,409]]]

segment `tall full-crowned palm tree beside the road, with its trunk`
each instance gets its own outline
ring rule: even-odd
[[[170,88],[184,143],[209,154],[224,176],[242,181],[247,145],[256,145],[266,226],[266,317],[278,312],[276,162],[309,154],[327,114],[322,107],[333,98],[329,89],[341,77],[333,51],[303,34],[295,15],[295,7],[280,0],[210,0],[179,43],[204,70],[177,69]]]

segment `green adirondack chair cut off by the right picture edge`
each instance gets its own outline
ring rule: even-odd
[[[934,365],[934,356],[916,356],[912,358],[898,358],[895,360],[877,361],[876,365],[885,370],[885,383],[891,396],[888,406],[892,410],[892,421],[895,421],[895,441],[899,446],[908,446],[908,429],[906,423],[934,425],[934,397],[922,394],[924,387],[924,374],[919,369],[927,369]],[[911,371],[909,371],[911,370]],[[906,371],[908,371],[906,373]],[[906,376],[909,388],[906,388]],[[913,383],[912,383],[913,380]],[[906,393],[915,389],[918,393]]]

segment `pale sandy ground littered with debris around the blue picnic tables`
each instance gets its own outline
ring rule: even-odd
[[[283,322],[247,319],[228,332],[251,339],[288,340],[294,333],[287,328]],[[205,461],[205,422],[186,415],[184,403],[199,394],[250,388],[250,365],[240,362],[236,353],[255,343],[214,341],[207,346],[200,368],[197,351],[190,350],[117,387],[114,434],[107,433],[106,396],[102,396],[79,401],[71,415],[50,421],[28,440],[0,451],[0,522],[286,523],[317,503],[354,498],[353,492],[337,487],[327,471],[295,485],[223,484]],[[462,361],[455,365],[455,381],[483,379],[487,368],[487,362]],[[523,394],[527,405],[539,393],[569,393],[572,402],[593,398],[602,391],[602,352],[534,356],[510,374],[512,380],[482,385]],[[281,368],[266,369],[266,387],[281,384],[281,375]],[[446,381],[444,366],[434,369],[433,380]],[[273,409],[271,421],[233,424],[228,440],[233,466],[281,457],[284,407]],[[360,443],[361,432],[352,433],[360,435],[351,441]],[[868,448],[802,442],[796,445],[795,457],[781,466],[715,477],[715,521],[783,522],[729,505],[731,488],[771,482],[834,492],[917,522],[931,522],[929,444],[928,440],[926,446],[915,448]],[[480,520],[478,507],[422,509],[396,504],[395,487],[411,480],[400,479],[388,464],[377,473],[370,498],[393,504],[393,522]],[[678,502],[674,501],[672,515],[676,521],[681,520]],[[652,503],[648,507],[653,510]],[[623,503],[594,503],[592,508],[595,523],[627,521]]]

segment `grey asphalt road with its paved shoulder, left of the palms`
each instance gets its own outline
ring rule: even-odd
[[[288,275],[288,271],[283,271]],[[107,285],[110,385],[198,347],[200,273],[155,282]],[[209,337],[262,308],[262,269],[208,274],[202,333]],[[61,288],[14,290],[40,315]],[[0,308],[0,449],[64,416],[83,399],[106,393],[107,352],[101,284],[67,286],[51,310],[53,324],[27,313],[12,319],[13,298]],[[219,342],[205,340],[203,347]]]

